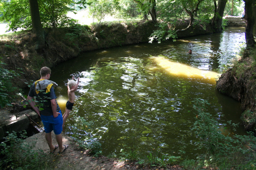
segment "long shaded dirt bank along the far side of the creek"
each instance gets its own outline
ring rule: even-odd
[[[181,21],[175,29],[186,28],[189,20]],[[116,47],[134,43],[148,42],[148,37],[156,30],[155,24],[146,22],[106,22],[95,26],[73,25],[69,28],[45,29],[45,48],[37,49],[35,34],[30,31],[16,35],[0,36],[1,61],[4,67],[20,73],[13,81],[16,87],[24,88],[30,80],[37,80],[40,68],[67,61],[79,53],[101,48]],[[210,26],[203,30],[200,25],[193,25],[186,32],[178,34],[179,38],[211,34]],[[86,58],[85,58],[86,59]]]

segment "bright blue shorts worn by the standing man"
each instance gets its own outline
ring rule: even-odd
[[[61,113],[61,111],[59,111],[59,113]],[[45,126],[45,133],[54,131],[55,134],[61,134],[63,124],[62,114],[58,115],[58,117],[53,117],[53,115],[41,115],[41,120]]]

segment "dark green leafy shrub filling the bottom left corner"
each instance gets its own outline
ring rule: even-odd
[[[45,155],[42,154],[43,150],[34,150],[36,142],[24,142],[26,131],[21,133],[20,137],[14,131],[7,133],[6,140],[0,144],[2,148],[0,153],[4,155],[0,167],[16,170],[37,169],[41,162],[39,160],[45,158]]]

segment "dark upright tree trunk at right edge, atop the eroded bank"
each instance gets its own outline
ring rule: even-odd
[[[244,0],[244,19],[246,20],[245,39],[247,46],[254,46],[254,44],[256,44],[253,36],[255,19],[252,12],[253,8],[255,8],[254,4],[254,0]]]

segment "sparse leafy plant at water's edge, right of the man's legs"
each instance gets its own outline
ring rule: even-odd
[[[72,137],[77,141],[80,148],[89,149],[94,156],[100,156],[102,154],[101,143],[97,138],[93,138],[92,125],[92,122],[87,122],[83,117],[75,118]]]

